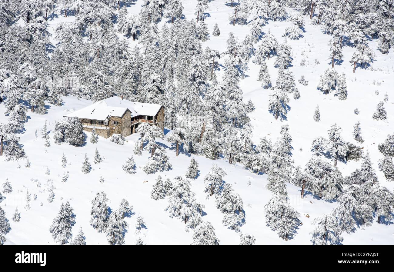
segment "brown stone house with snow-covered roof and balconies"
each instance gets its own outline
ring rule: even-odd
[[[106,98],[64,117],[78,117],[85,131],[92,131],[94,127],[104,138],[112,134],[131,135],[141,123],[158,126],[164,131],[163,105],[132,102],[119,96]]]

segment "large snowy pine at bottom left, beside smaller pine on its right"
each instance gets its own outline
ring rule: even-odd
[[[59,213],[52,221],[49,232],[52,233],[52,238],[59,244],[66,244],[72,237],[71,228],[75,224],[74,209],[67,201],[62,203]]]

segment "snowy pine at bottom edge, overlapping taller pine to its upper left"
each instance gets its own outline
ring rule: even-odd
[[[124,244],[125,233],[128,227],[123,219],[123,213],[119,210],[113,211],[107,220],[106,236],[109,244]]]

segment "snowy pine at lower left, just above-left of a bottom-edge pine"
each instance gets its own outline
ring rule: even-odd
[[[107,195],[105,192],[100,191],[96,194],[92,200],[92,208],[90,210],[90,224],[94,229],[99,232],[105,231],[108,224],[108,206],[107,206]]]

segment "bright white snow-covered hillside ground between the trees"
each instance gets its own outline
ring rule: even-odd
[[[141,0],[135,2],[128,8],[130,13],[138,13],[141,6]],[[190,20],[194,18],[195,1],[184,0],[184,15]],[[206,24],[209,32],[212,32],[215,23],[218,24],[220,35],[215,37],[210,35],[210,40],[203,43],[203,46],[209,46],[219,52],[225,50],[226,40],[230,32],[233,32],[240,41],[249,33],[249,26],[232,26],[229,24],[228,17],[232,12],[231,7],[225,5],[225,1],[217,0],[209,3],[206,17]],[[288,13],[295,12],[288,9]],[[59,15],[56,19],[48,21],[50,24],[50,32],[54,33],[54,27],[61,21],[72,21],[74,17],[64,18]],[[292,46],[292,72],[296,78],[297,87],[299,88],[301,98],[294,100],[290,98],[289,105],[291,107],[287,118],[288,120],[280,122],[275,120],[268,113],[268,97],[271,89],[262,89],[260,82],[256,81],[258,77],[258,65],[249,62],[249,70],[245,72],[245,78],[241,80],[240,87],[243,90],[243,99],[246,102],[251,99],[256,109],[249,114],[251,123],[254,126],[253,141],[255,144],[260,138],[267,136],[274,142],[279,136],[280,128],[283,124],[288,124],[290,134],[293,137],[292,146],[294,165],[304,167],[312,153],[310,152],[310,144],[317,136],[327,136],[327,130],[332,124],[338,124],[342,129],[342,136],[346,141],[355,142],[352,137],[353,125],[359,120],[363,133],[364,152],[368,151],[374,168],[377,172],[379,183],[390,191],[394,189],[393,182],[387,182],[383,173],[377,169],[377,161],[382,155],[377,150],[377,145],[383,142],[387,135],[394,132],[394,53],[390,50],[388,54],[381,54],[377,51],[377,42],[369,41],[370,48],[375,53],[374,62],[369,69],[357,68],[355,74],[352,73],[353,65],[349,63],[351,55],[355,48],[346,46],[343,48],[344,61],[342,65],[336,65],[338,72],[346,74],[348,85],[348,99],[338,100],[333,94],[323,94],[316,89],[320,74],[331,67],[329,59],[328,41],[329,35],[324,35],[320,30],[320,26],[309,24],[309,16],[305,16],[305,33],[299,40],[287,39]],[[158,26],[159,29],[164,22]],[[290,22],[273,22],[263,27],[263,31],[270,31],[279,42],[282,42],[282,34],[284,28],[290,25]],[[130,40],[130,45],[134,46],[138,41]],[[56,43],[52,36],[52,43]],[[258,45],[255,45],[257,48]],[[302,56],[307,59],[307,64],[301,67]],[[315,63],[315,59],[320,64]],[[277,77],[277,68],[273,67],[275,57],[267,61],[269,73],[272,82]],[[219,60],[223,64],[223,59]],[[221,79],[222,70],[217,71],[217,78]],[[305,76],[309,81],[307,86],[298,84],[298,79]],[[379,82],[379,84],[377,84]],[[379,94],[375,94],[378,90]],[[383,100],[385,93],[388,93],[389,101],[385,104],[388,118],[386,120],[376,121],[372,118],[377,103]],[[135,232],[135,221],[138,214],[143,216],[147,230],[143,230],[142,239],[147,244],[190,244],[192,241],[192,231],[184,230],[184,223],[178,219],[170,218],[168,213],[164,211],[167,206],[167,200],[154,201],[151,199],[152,185],[160,174],[163,179],[173,179],[175,176],[184,176],[191,157],[184,153],[180,153],[178,157],[175,155],[175,148],[166,141],[158,140],[163,144],[169,155],[172,170],[167,172],[158,172],[156,174],[145,174],[142,167],[145,165],[149,154],[143,152],[142,156],[134,156],[137,164],[136,174],[126,174],[121,166],[126,159],[133,154],[135,141],[138,134],[126,137],[124,146],[119,146],[108,139],[100,137],[97,144],[91,144],[89,141],[82,147],[74,147],[68,144],[56,145],[52,144],[48,148],[44,147],[44,139],[41,138],[40,129],[43,127],[45,120],[48,120],[48,130],[53,130],[56,120],[62,118],[63,115],[81,109],[91,104],[91,101],[78,100],[75,97],[63,97],[64,105],[61,107],[48,105],[49,110],[45,115],[37,115],[27,113],[30,117],[25,124],[26,132],[20,135],[20,142],[28,156],[31,167],[25,168],[24,161],[5,162],[0,159],[0,183],[8,179],[12,186],[13,192],[6,195],[6,200],[1,202],[1,206],[6,211],[7,218],[11,218],[15,207],[19,207],[21,213],[20,222],[12,222],[10,220],[11,231],[6,235],[6,244],[54,244],[55,241],[48,231],[53,218],[57,215],[58,209],[62,202],[68,200],[74,208],[76,215],[76,224],[73,227],[73,234],[76,235],[78,229],[82,227],[87,244],[107,244],[104,233],[99,233],[90,226],[90,209],[91,200],[99,191],[104,191],[108,195],[110,202],[108,205],[112,210],[117,209],[123,198],[134,207],[134,215],[126,218],[129,223],[128,232],[125,235],[126,244],[134,244],[138,237]],[[314,122],[313,114],[316,105],[320,107],[321,121]],[[359,115],[353,113],[358,107]],[[4,115],[5,108],[0,104],[0,122],[7,122]],[[165,130],[165,133],[171,131]],[[36,137],[36,135],[38,137]],[[50,136],[52,137],[52,132]],[[89,133],[87,133],[89,136]],[[93,165],[92,159],[95,149],[99,150],[104,160]],[[300,150],[302,148],[302,151]],[[67,157],[67,167],[61,167],[61,156],[65,154]],[[92,163],[92,171],[89,174],[82,174],[81,167],[84,161],[85,153]],[[240,194],[243,199],[243,208],[246,214],[246,224],[242,226],[243,233],[251,233],[256,238],[256,244],[310,244],[310,231],[313,229],[311,224],[313,219],[324,213],[329,213],[337,204],[336,202],[327,202],[314,197],[307,193],[304,199],[300,198],[300,188],[287,184],[290,204],[301,214],[302,225],[297,230],[294,239],[284,241],[278,235],[271,231],[265,223],[264,205],[271,197],[271,192],[265,188],[266,175],[256,175],[247,171],[242,165],[230,165],[227,161],[219,159],[212,161],[205,157],[194,156],[199,163],[201,171],[199,177],[192,181],[192,191],[196,193],[198,201],[205,205],[204,211],[206,216],[204,220],[209,221],[215,228],[216,235],[220,240],[220,244],[238,244],[239,235],[235,231],[227,229],[222,223],[223,214],[215,206],[214,198],[205,199],[203,191],[204,176],[209,172],[213,163],[222,167],[227,175],[224,180],[233,185],[234,190]],[[21,168],[17,166],[20,164]],[[361,165],[361,161],[349,161],[347,164],[338,163],[338,167],[343,176],[349,175],[355,168]],[[45,174],[46,168],[49,168],[50,175]],[[61,183],[63,172],[69,171],[69,179],[66,183]],[[99,182],[99,178],[104,178],[104,183]],[[41,187],[37,187],[37,182],[31,179],[38,179]],[[48,203],[46,183],[48,179],[54,182],[54,202]],[[250,180],[251,185],[247,185]],[[147,182],[146,182],[147,181]],[[33,195],[37,194],[37,200],[31,202],[32,209],[24,210],[24,197],[26,191]],[[40,203],[43,205],[40,205]],[[309,217],[305,216],[309,215]],[[351,235],[344,234],[343,244],[394,244],[394,224],[374,224],[371,227],[357,229]]]

